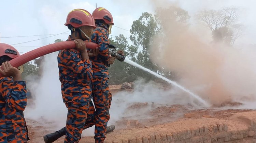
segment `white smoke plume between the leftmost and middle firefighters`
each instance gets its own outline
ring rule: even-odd
[[[43,64],[43,73],[38,81],[33,81],[30,90],[33,95],[33,102],[25,110],[27,118],[35,121],[41,121],[47,125],[54,123],[51,128],[59,129],[65,126],[67,117],[67,108],[62,102],[60,82],[58,75],[57,53],[45,55]]]

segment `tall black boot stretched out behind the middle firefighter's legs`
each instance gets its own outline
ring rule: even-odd
[[[55,131],[53,133],[49,133],[44,136],[44,142],[45,143],[53,143],[54,141],[58,140],[60,137],[64,136],[66,134],[66,127]]]

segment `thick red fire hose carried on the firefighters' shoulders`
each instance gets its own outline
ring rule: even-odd
[[[96,49],[98,47],[98,44],[93,43],[93,42],[85,42],[86,47],[88,49]],[[64,50],[64,49],[71,49],[71,48],[75,48],[75,42],[74,41],[64,41],[64,42],[58,42],[58,43],[54,43],[54,44],[49,44],[37,49],[34,49],[32,51],[29,51],[23,55],[20,55],[12,60],[10,60],[10,64],[13,67],[18,68],[19,66],[22,66],[23,64],[41,57],[43,55],[52,53],[52,52],[56,52],[59,50]],[[1,74],[0,74],[1,77]]]

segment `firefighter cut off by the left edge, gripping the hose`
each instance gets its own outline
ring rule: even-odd
[[[9,52],[8,52],[9,51]],[[15,48],[0,43],[0,143],[26,143],[28,130],[23,111],[27,106],[26,82],[9,60],[19,56]]]

